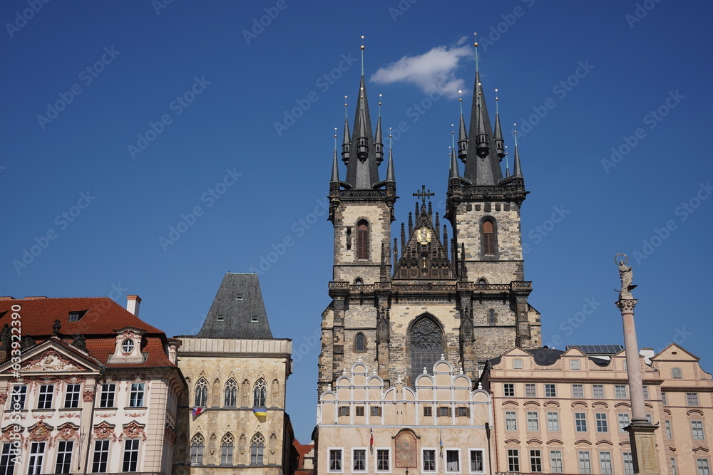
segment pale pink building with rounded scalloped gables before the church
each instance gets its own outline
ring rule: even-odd
[[[358,361],[322,393],[317,473],[491,473],[488,392],[473,390],[445,359],[419,376],[415,390],[401,379],[387,387],[375,372]]]

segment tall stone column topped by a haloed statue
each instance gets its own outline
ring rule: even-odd
[[[623,256],[625,260],[618,261]],[[625,254],[617,254],[614,262],[619,266],[619,276],[622,288],[619,291],[619,300],[616,306],[622,313],[624,325],[624,346],[629,378],[629,395],[631,397],[632,421],[625,431],[629,433],[629,441],[634,459],[635,474],[660,474],[659,457],[656,451],[655,430],[658,428],[646,419],[644,406],[644,390],[641,381],[641,363],[639,345],[636,340],[636,327],[634,324],[634,307],[637,299],[632,296],[632,270],[627,266],[629,259]]]

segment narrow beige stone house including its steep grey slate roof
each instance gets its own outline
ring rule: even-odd
[[[188,392],[173,473],[290,473],[292,340],[272,338],[257,275],[226,273],[198,335],[176,338]]]

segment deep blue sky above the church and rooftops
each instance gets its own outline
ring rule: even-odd
[[[181,335],[200,328],[225,271],[257,268],[275,337],[294,341],[287,409],[307,442],[332,276],[324,197],[344,95],[354,115],[360,37],[372,118],[383,94],[384,127],[400,125],[396,233],[421,184],[443,209],[477,31],[489,109],[498,88],[503,124],[520,130],[525,278],[543,343],[622,343],[612,259],[624,252],[640,346],[676,340],[712,370],[712,10],[5,1],[2,294],[125,304],[138,293],[142,318]]]

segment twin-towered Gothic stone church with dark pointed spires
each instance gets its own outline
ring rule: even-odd
[[[531,283],[523,273],[520,206],[528,192],[517,147],[514,172],[503,177],[500,118],[493,133],[476,66],[471,140],[462,113],[458,140],[457,157],[466,166],[461,175],[453,150],[446,214],[434,214],[428,202],[434,194],[421,187],[408,224],[392,240],[394,159],[389,147],[381,180],[381,115],[372,135],[363,49],[351,132],[344,119],[346,178],[339,178],[335,149],[329,182],[334,267],[332,302],[322,313],[318,392],[357,360],[387,386],[399,377],[414,385],[442,355],[477,380],[486,360],[516,345],[540,345],[539,314],[528,304]]]

